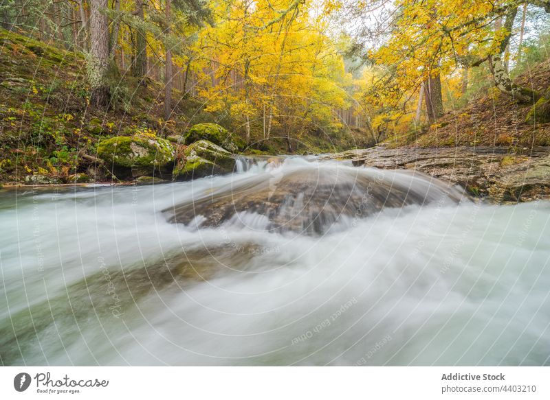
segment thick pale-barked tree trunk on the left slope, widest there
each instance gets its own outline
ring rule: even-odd
[[[107,0],[90,1],[90,55],[87,65],[90,84],[90,103],[96,107],[109,104],[109,86],[105,82],[109,67],[109,21],[102,10],[107,9]]]

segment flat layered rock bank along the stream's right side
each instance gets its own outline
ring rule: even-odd
[[[350,150],[325,158],[358,167],[415,169],[461,185],[489,201],[525,202],[550,198],[550,148],[498,147],[395,148]]]

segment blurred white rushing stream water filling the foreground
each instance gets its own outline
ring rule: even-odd
[[[459,192],[434,180],[311,159],[239,168],[187,183],[1,192],[1,362],[550,364],[550,203],[456,204]],[[169,222],[170,210],[228,187],[246,194],[267,180],[271,198],[312,168],[380,176],[430,202],[346,209],[315,232],[274,230],[272,213],[245,209],[217,224],[199,213]]]

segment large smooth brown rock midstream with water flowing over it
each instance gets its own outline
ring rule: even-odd
[[[459,202],[463,192],[412,172],[377,172],[311,163],[274,166],[166,210],[170,222],[321,234],[342,222],[385,208],[428,202]]]

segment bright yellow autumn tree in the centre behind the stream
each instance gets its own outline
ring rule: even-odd
[[[334,112],[347,106],[351,76],[323,18],[309,3],[228,0],[201,31],[195,61],[206,110],[228,111],[245,140],[280,137],[287,150],[312,130],[342,127]],[[213,67],[213,68],[212,68]],[[328,140],[328,139],[327,139]]]

